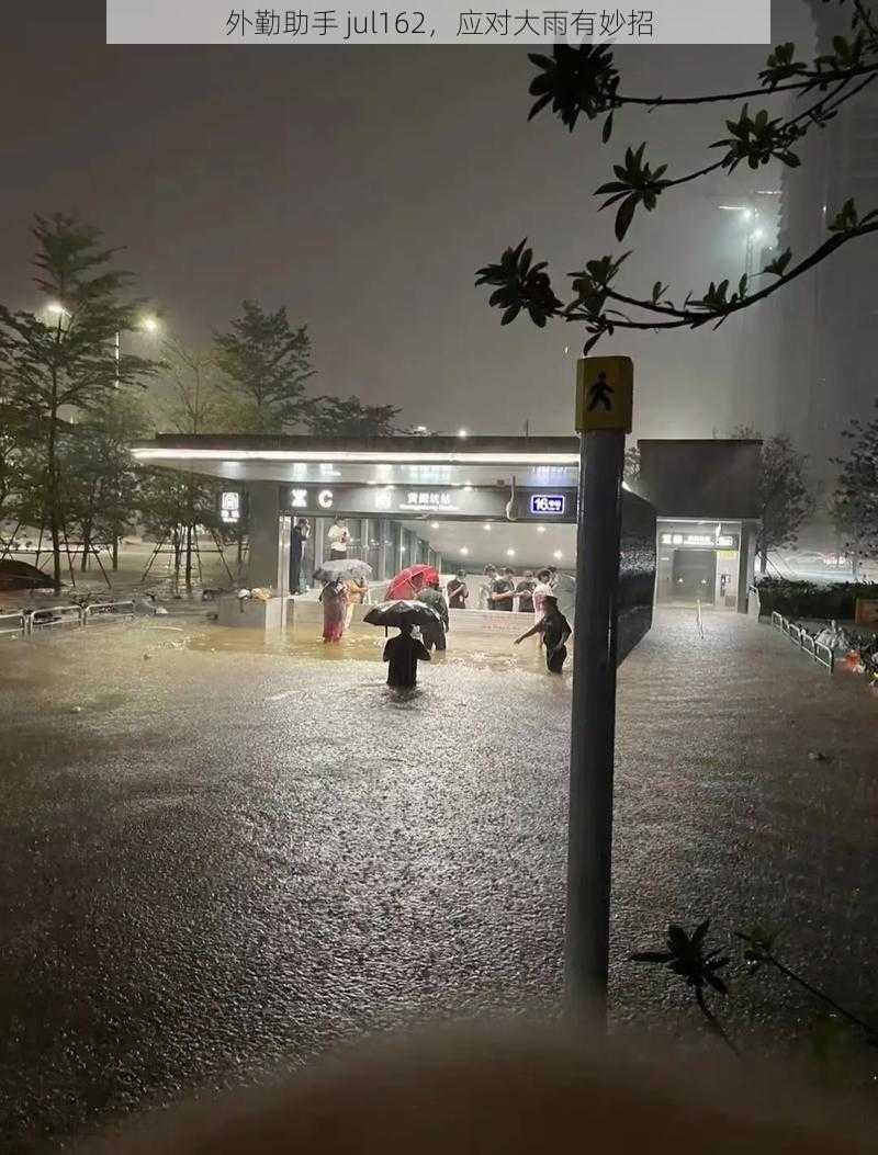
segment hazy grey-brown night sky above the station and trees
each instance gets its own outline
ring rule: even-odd
[[[810,47],[804,6],[774,8],[774,42]],[[674,173],[724,134],[715,107],[617,116],[605,149],[587,122],[573,135],[548,113],[528,124],[523,47],[107,47],[101,0],[16,9],[0,47],[0,300],[37,304],[32,214],[76,210],[126,247],[185,341],[209,341],[244,297],[285,305],[311,327],[317,389],[439,430],[570,432],[579,331],[501,330],[474,270],[526,234],[560,274],[618,252],[590,194],[625,144],[648,140]],[[671,95],[749,87],[767,51],[617,59],[626,91]],[[626,238],[625,286],[661,277],[682,298],[737,278],[741,225],[715,206],[776,184],[746,173],[676,192]],[[735,393],[739,345],[730,322],[601,351],[637,358],[637,433],[709,437],[769,420]]]

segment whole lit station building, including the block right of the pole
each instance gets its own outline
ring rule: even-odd
[[[745,612],[760,444],[639,446],[639,495],[627,492],[623,502],[623,580],[648,572],[652,591],[657,561],[660,601]],[[516,582],[553,566],[566,576],[561,610],[573,613],[578,438],[159,435],[133,453],[143,464],[218,479],[222,515],[246,517],[247,581],[291,595],[296,614],[308,602],[317,610],[311,579],[329,557],[338,519],[348,557],[371,567],[374,601],[411,565],[433,566],[444,586],[462,572],[469,601],[455,611],[461,626],[512,631],[521,624],[515,608],[499,612],[479,601],[485,566],[508,567]],[[296,590],[290,541],[300,519],[310,535]]]

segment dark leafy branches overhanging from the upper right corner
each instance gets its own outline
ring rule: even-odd
[[[613,179],[601,185],[595,196],[602,199],[601,209],[615,208],[616,238],[622,241],[635,215],[653,213],[660,202],[672,195],[674,189],[705,178],[735,173],[741,165],[754,172],[779,162],[788,167],[799,165],[796,147],[809,133],[827,128],[839,110],[878,77],[878,18],[866,0],[824,0],[839,9],[838,35],[832,40],[832,52],[811,60],[801,59],[795,44],[780,44],[769,54],[756,80],[756,87],[737,92],[705,92],[690,96],[634,95],[626,91],[616,67],[612,51],[607,45],[583,44],[572,47],[556,44],[551,57],[534,53],[531,62],[537,74],[530,84],[536,97],[530,117],[551,105],[552,113],[571,131],[580,118],[603,121],[603,141],[613,133],[616,117],[630,107],[646,107],[653,112],[700,104],[719,106],[738,104],[736,113],[724,119],[724,133],[710,148],[719,149],[716,159],[708,161],[692,172],[670,173],[665,163],[656,162],[647,152],[647,144],[630,146],[620,163],[613,165]],[[790,92],[801,99],[787,114],[775,116],[772,105]],[[752,107],[757,99],[764,107]],[[714,154],[716,155],[716,154]],[[848,195],[850,191],[847,191]],[[588,352],[603,336],[616,330],[665,330],[704,325],[721,325],[727,318],[750,308],[803,276],[842,245],[878,231],[878,207],[861,213],[853,199],[835,201],[827,217],[827,236],[817,248],[804,255],[787,249],[762,269],[760,276],[768,283],[756,286],[747,276],[735,285],[717,276],[707,288],[686,293],[674,292],[663,277],[650,289],[625,290],[617,288],[617,277],[628,253],[604,255],[588,260],[579,271],[570,274],[570,290],[556,295],[548,262],[534,262],[534,254],[522,240],[509,247],[496,264],[488,264],[476,274],[476,284],[488,285],[493,292],[490,304],[503,310],[503,322],[508,325],[521,313],[543,327],[549,320],[583,325]],[[566,299],[561,299],[566,298]]]

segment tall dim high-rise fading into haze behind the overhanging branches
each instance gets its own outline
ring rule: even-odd
[[[847,32],[847,8],[808,2],[817,51],[832,52],[833,35]],[[801,55],[810,57],[811,49],[799,45]],[[814,97],[794,107],[804,99]],[[797,151],[802,167],[782,174],[777,244],[780,252],[793,249],[794,264],[827,239],[846,200],[854,198],[861,215],[878,208],[878,90],[864,89]],[[850,417],[866,415],[878,396],[877,274],[878,237],[855,240],[760,311],[760,323],[774,334],[777,377],[775,412],[766,424],[809,454],[824,489],[838,474],[829,459],[843,452],[841,430]],[[765,388],[772,388],[768,380]]]

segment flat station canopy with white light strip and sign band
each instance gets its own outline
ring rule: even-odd
[[[573,558],[576,438],[163,434],[133,452],[144,465],[192,470],[231,486],[276,483],[281,507],[291,513],[402,521],[461,561],[464,556],[518,565]],[[493,536],[464,532],[467,522],[490,526]]]

